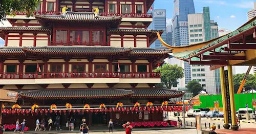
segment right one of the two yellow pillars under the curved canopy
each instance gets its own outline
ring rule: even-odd
[[[230,109],[231,109],[231,119],[232,119],[231,129],[238,130],[238,125],[236,122],[236,106],[234,105],[234,86],[233,86],[232,66],[228,65],[227,70],[228,70]]]

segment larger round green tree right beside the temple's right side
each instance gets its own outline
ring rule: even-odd
[[[178,79],[184,77],[183,69],[177,64],[171,65],[166,63],[154,71],[161,73],[161,85],[166,88],[176,87],[179,84]]]

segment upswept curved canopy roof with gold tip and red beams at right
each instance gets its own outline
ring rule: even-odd
[[[229,34],[184,47],[162,43],[173,50],[174,57],[189,64],[211,65],[210,70],[226,65],[256,65],[255,25],[256,17]]]

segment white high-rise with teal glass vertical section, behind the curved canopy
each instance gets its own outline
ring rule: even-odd
[[[209,7],[203,13],[188,14],[189,44],[210,40],[219,36],[218,25],[210,20]],[[191,80],[198,81],[209,94],[220,94],[220,70],[210,71],[208,65],[191,65]]]

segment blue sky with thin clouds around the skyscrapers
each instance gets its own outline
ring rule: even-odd
[[[154,9],[166,9],[167,23],[173,18],[173,0],[155,0]],[[236,30],[246,23],[247,12],[253,8],[251,0],[194,0],[196,13],[203,7],[210,8],[210,19],[217,21],[219,28]]]

